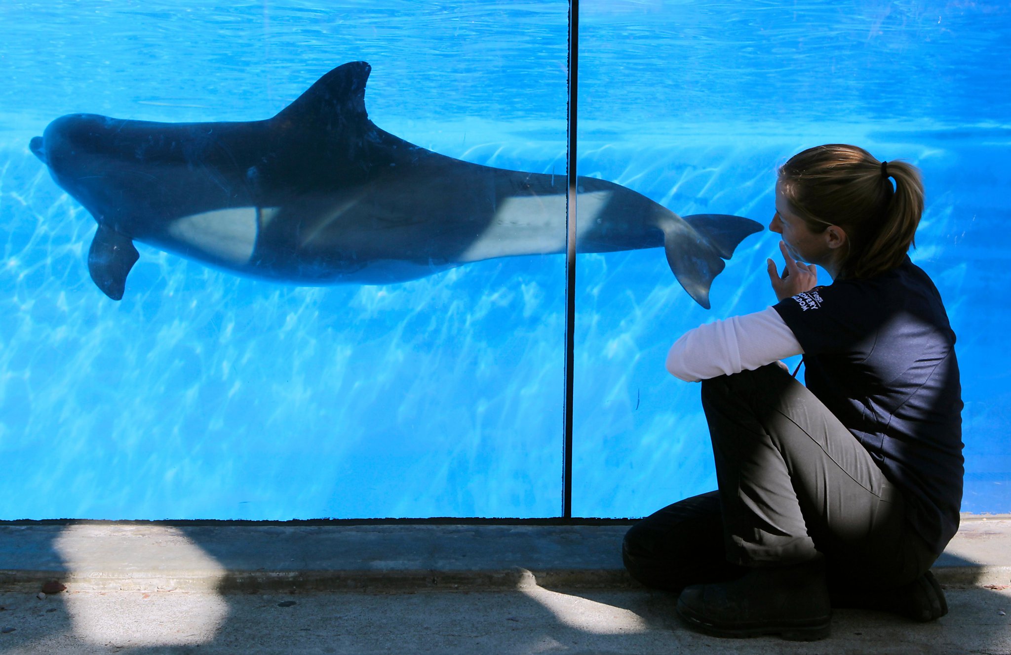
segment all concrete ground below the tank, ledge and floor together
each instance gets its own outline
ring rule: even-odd
[[[624,571],[627,527],[0,524],[0,653],[1011,655],[1009,516],[963,517],[948,616],[837,610],[815,643],[690,631]]]

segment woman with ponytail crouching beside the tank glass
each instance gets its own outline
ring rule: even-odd
[[[821,639],[841,603],[941,617],[929,569],[958,527],[962,403],[940,295],[906,254],[919,172],[811,148],[779,169],[775,210],[778,304],[700,326],[667,357],[702,381],[719,490],[634,525],[625,564],[722,637]],[[807,387],[778,362],[801,353]]]

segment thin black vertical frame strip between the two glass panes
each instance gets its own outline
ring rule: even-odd
[[[568,144],[565,202],[565,434],[562,447],[562,518],[572,518],[572,382],[575,352],[576,113],[579,64],[579,0],[569,0]]]

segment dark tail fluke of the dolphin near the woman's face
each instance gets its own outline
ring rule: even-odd
[[[664,250],[667,263],[677,281],[697,303],[710,309],[709,289],[723,270],[724,259],[748,235],[762,229],[761,224],[740,216],[696,214],[682,217],[691,228],[666,230]]]

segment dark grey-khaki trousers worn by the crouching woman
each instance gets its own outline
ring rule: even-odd
[[[824,558],[832,587],[906,584],[938,553],[850,431],[775,364],[702,383],[719,491],[632,526],[625,564],[647,586]]]

